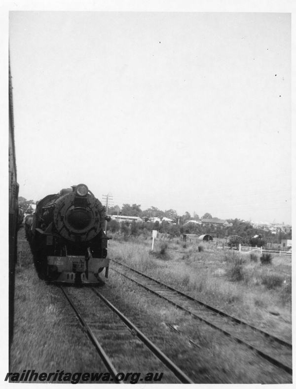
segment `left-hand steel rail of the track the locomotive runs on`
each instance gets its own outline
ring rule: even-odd
[[[111,360],[109,359],[108,355],[106,354],[106,352],[103,350],[102,346],[100,345],[100,343],[98,342],[97,338],[95,337],[94,333],[92,332],[92,330],[89,328],[88,324],[85,322],[84,318],[82,317],[81,313],[78,311],[77,307],[75,306],[74,302],[72,301],[71,297],[69,296],[69,294],[66,292],[66,290],[64,289],[63,286],[60,286],[62,292],[64,293],[64,295],[66,296],[67,300],[69,301],[71,307],[73,308],[74,312],[76,313],[80,323],[85,327],[86,329],[86,332],[87,332],[87,335],[89,337],[89,339],[92,341],[93,345],[95,346],[96,350],[98,351],[100,357],[102,358],[102,361],[104,362],[107,370],[109,371],[109,373],[111,374],[111,376],[113,377],[113,380],[114,380],[114,383],[115,384],[123,384],[123,382],[121,381],[117,381],[116,380],[116,375],[118,374],[118,372],[116,371],[115,367],[113,366]]]

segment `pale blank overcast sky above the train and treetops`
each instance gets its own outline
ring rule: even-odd
[[[20,196],[291,224],[291,14],[9,14]]]

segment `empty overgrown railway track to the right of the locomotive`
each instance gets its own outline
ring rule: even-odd
[[[189,313],[194,318],[221,331],[238,343],[256,351],[262,358],[292,375],[292,345],[290,343],[116,260],[112,260],[111,269]]]

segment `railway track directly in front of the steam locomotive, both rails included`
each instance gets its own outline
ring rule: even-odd
[[[92,344],[96,348],[97,352],[99,353],[102,361],[104,362],[107,370],[111,374],[111,381],[114,381],[114,383],[120,383],[122,384],[122,381],[118,381],[116,377],[118,377],[118,371],[114,367],[113,363],[111,362],[111,357],[108,356],[107,352],[104,350],[102,343],[106,343],[106,338],[108,338],[111,335],[114,336],[114,333],[116,333],[116,337],[118,338],[118,334],[122,335],[122,339],[124,339],[124,342],[130,342],[129,338],[131,337],[137,337],[138,341],[142,342],[148,350],[150,350],[153,354],[154,357],[156,357],[167,369],[169,374],[173,374],[177,380],[176,383],[183,383],[183,384],[193,384],[193,381],[178,367],[172,362],[171,359],[169,359],[160,349],[157,348],[151,342],[145,335],[140,331],[139,328],[137,328],[126,316],[123,315],[116,307],[114,307],[110,301],[108,301],[96,288],[88,288],[91,290],[96,296],[99,297],[98,303],[100,302],[101,304],[103,303],[103,307],[105,307],[104,310],[107,310],[109,312],[115,313],[115,315],[120,319],[121,324],[123,323],[124,326],[119,326],[117,325],[114,328],[114,316],[109,316],[109,323],[104,321],[103,325],[100,325],[96,322],[96,319],[90,318],[89,320],[85,319],[85,316],[89,317],[95,317],[95,314],[88,314],[84,315],[82,313],[82,309],[78,307],[78,304],[75,304],[74,299],[75,296],[73,297],[72,294],[74,293],[74,288],[71,287],[63,287],[60,286],[62,292],[64,293],[65,297],[67,298],[69,304],[73,308],[78,320],[80,321],[84,331],[86,331],[89,339],[91,340]],[[69,290],[72,289],[72,292],[69,293]],[[102,311],[102,305],[100,307],[100,313],[101,315],[104,315],[105,313]],[[105,318],[107,317],[106,314],[104,316]],[[87,322],[88,321],[88,322]],[[110,330],[110,326],[112,326],[112,330]],[[114,337],[113,337],[114,339]],[[118,340],[118,339],[117,339]],[[109,340],[109,342],[113,343],[116,342],[116,340]],[[124,347],[124,346],[123,346]],[[122,349],[122,345],[121,345]],[[136,368],[134,368],[136,370]],[[162,369],[162,371],[165,371],[165,369]],[[166,372],[166,371],[165,371]],[[165,373],[164,373],[165,374]],[[169,375],[168,374],[168,375]],[[140,381],[143,381],[141,379]]]

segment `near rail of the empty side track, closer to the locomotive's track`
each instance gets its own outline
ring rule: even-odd
[[[116,270],[116,269],[114,269],[114,268],[113,268],[113,270],[114,270],[115,272],[117,272],[117,273],[123,275],[124,277],[130,279],[131,281],[137,283],[138,285],[142,286],[144,289],[148,290],[150,293],[153,293],[153,294],[155,294],[156,296],[158,296],[158,297],[160,297],[160,298],[162,298],[162,299],[168,301],[170,304],[172,304],[172,305],[174,305],[175,307],[177,307],[177,308],[179,308],[179,309],[181,309],[181,310],[183,310],[183,311],[189,313],[191,316],[193,316],[193,317],[197,318],[198,320],[200,320],[200,321],[206,323],[206,324],[209,325],[210,327],[215,328],[216,330],[222,332],[224,335],[231,337],[231,338],[234,339],[236,342],[238,342],[238,343],[240,343],[240,344],[244,344],[244,345],[247,346],[250,350],[256,351],[262,358],[268,360],[268,361],[269,361],[270,363],[272,363],[274,366],[279,367],[280,369],[286,371],[287,373],[289,373],[289,374],[291,374],[291,375],[293,374],[293,369],[292,369],[290,366],[285,365],[284,363],[282,363],[282,362],[278,361],[277,359],[271,357],[270,355],[266,354],[265,352],[263,352],[263,351],[257,349],[256,347],[250,345],[248,342],[244,341],[243,339],[238,338],[237,336],[231,334],[230,332],[223,330],[221,327],[219,327],[219,326],[217,326],[217,325],[211,323],[210,321],[208,321],[208,320],[206,320],[206,319],[204,319],[204,318],[198,316],[196,313],[193,313],[193,312],[187,310],[185,307],[182,307],[182,306],[179,305],[178,303],[175,303],[174,301],[170,300],[169,298],[167,298],[167,297],[165,297],[165,296],[163,296],[163,295],[157,293],[157,292],[154,291],[153,289],[150,289],[148,286],[141,284],[140,282],[138,282],[138,281],[136,281],[135,279],[129,277],[128,275],[123,274],[123,273],[119,272],[118,270]]]

